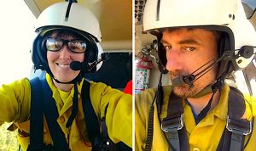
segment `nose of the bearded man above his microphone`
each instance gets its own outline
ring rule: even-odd
[[[181,56],[181,53],[179,53],[177,50],[173,49],[169,52],[166,52],[166,69],[169,71],[175,71],[175,70],[181,70],[182,69],[182,63],[183,58]]]

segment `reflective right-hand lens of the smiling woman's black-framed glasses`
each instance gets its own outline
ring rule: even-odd
[[[68,48],[74,53],[84,53],[87,48],[87,44],[84,41],[74,40],[68,42]]]

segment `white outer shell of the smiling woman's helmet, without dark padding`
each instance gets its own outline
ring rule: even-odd
[[[54,3],[45,8],[39,15],[35,28],[38,31],[41,28],[55,25],[85,31],[94,36],[97,42],[102,41],[102,33],[96,16],[79,3]]]

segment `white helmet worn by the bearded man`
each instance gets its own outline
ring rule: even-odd
[[[241,70],[249,64],[256,52],[256,32],[247,20],[240,0],[148,0],[143,13],[145,31],[160,32],[167,27],[198,27],[223,31],[225,51],[233,51],[236,59],[222,61],[218,77],[232,70]],[[160,61],[166,65],[166,56],[159,50]]]

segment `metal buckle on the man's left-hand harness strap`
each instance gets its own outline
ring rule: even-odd
[[[166,117],[161,122],[161,129],[165,132],[177,131],[183,128],[183,114],[176,118]]]

